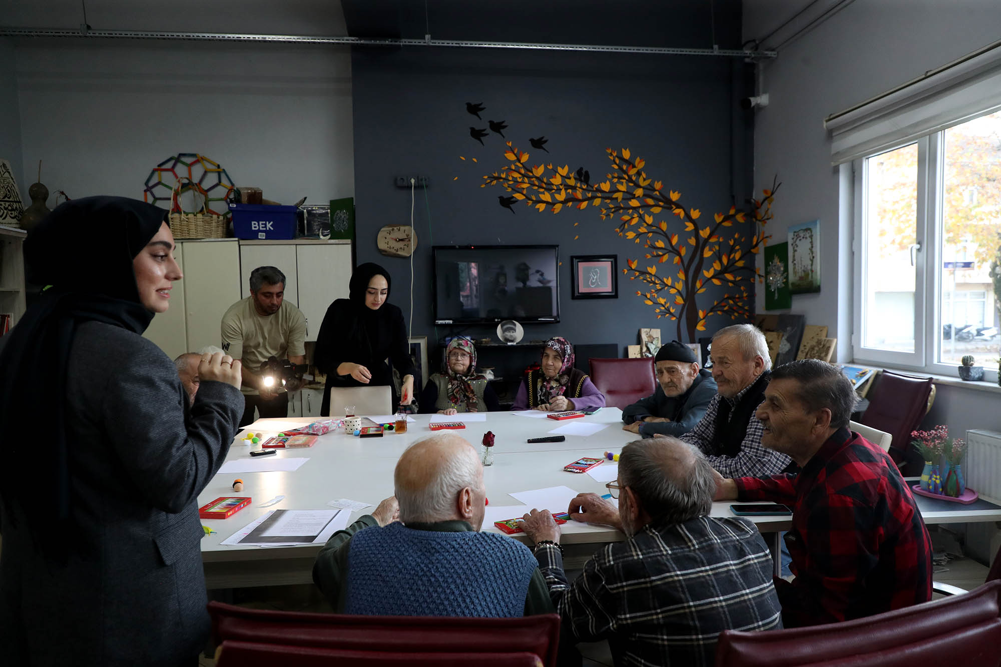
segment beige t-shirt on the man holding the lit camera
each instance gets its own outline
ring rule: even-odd
[[[291,301],[283,300],[273,315],[257,314],[253,296],[236,301],[222,315],[222,350],[257,373],[269,357],[283,360],[306,354],[306,317]],[[258,394],[244,385],[244,394]]]

